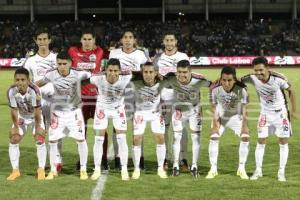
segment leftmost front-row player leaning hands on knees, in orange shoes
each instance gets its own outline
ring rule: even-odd
[[[27,69],[17,69],[15,71],[14,79],[15,84],[7,91],[13,122],[9,134],[9,159],[12,165],[12,172],[7,177],[7,180],[13,181],[21,176],[19,170],[19,143],[26,133],[27,128],[30,126],[33,127],[39,163],[37,179],[44,180],[47,149],[45,145],[40,91],[36,85],[30,83],[29,72]]]

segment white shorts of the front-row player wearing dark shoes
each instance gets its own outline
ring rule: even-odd
[[[195,106],[189,111],[181,112],[180,110],[173,111],[172,125],[173,131],[182,131],[184,123],[189,122],[190,129],[194,132],[201,131],[201,109]]]

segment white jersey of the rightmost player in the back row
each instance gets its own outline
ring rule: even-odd
[[[181,60],[189,60],[189,57],[187,54],[179,51],[176,51],[176,53],[172,55],[167,55],[165,52],[163,52],[156,60],[159,73],[164,76],[169,72],[176,72],[177,63]]]

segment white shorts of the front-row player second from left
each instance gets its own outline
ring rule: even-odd
[[[72,111],[53,111],[49,128],[49,141],[59,140],[64,137],[76,140],[85,139],[85,127],[80,108]]]

